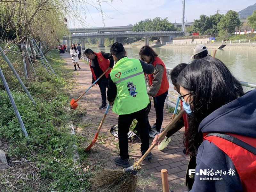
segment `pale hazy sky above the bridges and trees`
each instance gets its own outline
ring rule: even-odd
[[[170,22],[179,23],[182,17],[182,0],[84,0],[84,2],[88,2],[87,10],[81,10],[80,16],[86,17],[87,24],[69,22],[69,28],[104,27],[101,14],[94,7],[99,8],[97,2],[100,2],[105,14],[105,27],[133,25],[140,20],[155,17],[168,17]],[[221,14],[225,14],[228,10],[238,12],[253,4],[255,0],[185,0],[185,22],[193,22],[194,19],[199,19],[201,14],[213,15],[217,9]],[[86,12],[86,15],[82,12]]]

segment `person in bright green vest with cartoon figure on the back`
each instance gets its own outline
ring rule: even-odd
[[[115,158],[115,164],[124,168],[130,166],[128,155],[128,138],[133,119],[140,123],[140,151],[142,155],[149,148],[148,113],[149,103],[144,73],[154,72],[154,66],[138,59],[125,56],[124,46],[114,43],[110,52],[116,62],[108,76],[108,101],[113,104],[113,111],[118,114],[118,142],[120,157]],[[150,153],[145,159],[151,159]]]

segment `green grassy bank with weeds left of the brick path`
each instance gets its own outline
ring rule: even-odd
[[[0,82],[0,142],[8,161],[22,161],[10,164],[11,168],[0,170],[0,186],[4,191],[89,191],[90,170],[84,171],[73,162],[73,145],[78,146],[81,160],[83,137],[70,134],[70,121],[85,116],[85,110],[68,110],[69,90],[73,86],[71,70],[64,68],[64,60],[58,52],[47,57],[58,78],[49,75],[40,64],[35,64],[37,77],[32,74],[30,81],[24,77],[21,58],[13,53],[7,54],[14,68],[36,101],[33,106],[22,90],[16,77],[12,75],[4,60],[0,66],[11,89],[12,96],[27,129],[26,139],[13,111],[7,93]],[[64,71],[62,71],[64,70]],[[28,162],[25,162],[25,160]],[[22,172],[20,171],[22,170]]]

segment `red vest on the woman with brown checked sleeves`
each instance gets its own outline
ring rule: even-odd
[[[167,75],[166,75],[166,68],[165,68],[164,62],[159,57],[156,57],[155,60],[152,62],[152,65],[154,67],[156,67],[156,64],[160,64],[160,65],[164,66],[164,74],[163,74],[161,86],[156,94],[156,96],[158,96],[158,95],[161,95],[161,94],[165,93],[166,91],[168,91],[169,83],[168,83],[168,79],[167,79]],[[150,86],[153,84],[153,79],[154,79],[153,75],[154,75],[154,73],[148,75],[148,80],[149,80]]]

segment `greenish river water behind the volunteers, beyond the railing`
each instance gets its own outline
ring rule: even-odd
[[[95,52],[110,52],[110,47],[86,47]],[[179,63],[189,63],[193,48],[188,47],[156,47],[153,48],[166,67],[173,68]],[[246,49],[246,47],[245,47]],[[140,58],[140,48],[125,48],[129,58]],[[208,49],[212,55],[213,49]],[[240,81],[256,83],[256,51],[255,50],[217,50],[216,58],[220,59]]]

